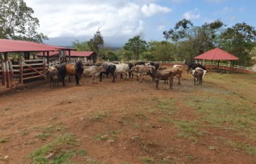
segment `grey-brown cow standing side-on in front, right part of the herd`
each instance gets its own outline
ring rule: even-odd
[[[155,79],[155,88],[159,90],[159,80],[170,81],[170,89],[172,89],[174,73],[168,70],[149,70],[149,75]]]

